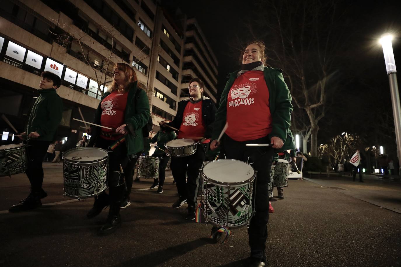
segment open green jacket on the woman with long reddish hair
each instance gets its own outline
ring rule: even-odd
[[[149,99],[144,90],[138,89],[138,82],[134,82],[130,90],[128,91],[126,113],[124,118],[124,123],[127,124],[126,129],[128,134],[126,135],[126,142],[128,155],[134,155],[140,151],[144,150],[144,141],[142,136],[142,127],[146,125],[149,119],[150,107]],[[138,93],[137,93],[137,90]],[[105,92],[101,98],[103,100],[108,96],[110,92]],[[94,123],[100,124],[100,117],[102,109],[97,106]],[[97,126],[93,126],[92,135],[95,138],[99,138],[101,129]],[[92,139],[92,138],[91,138]],[[95,139],[94,139],[95,141]],[[93,143],[89,143],[89,145]],[[89,146],[88,145],[88,146]]]

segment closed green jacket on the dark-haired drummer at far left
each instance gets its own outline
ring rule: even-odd
[[[39,137],[36,140],[54,141],[57,126],[63,116],[63,100],[55,89],[38,90],[38,92],[40,96],[29,114],[26,134],[38,132]]]

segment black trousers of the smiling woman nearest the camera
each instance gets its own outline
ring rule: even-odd
[[[255,187],[255,215],[249,224],[249,246],[251,256],[262,255],[266,248],[267,222],[269,221],[269,180],[273,161],[274,149],[271,147],[246,147],[245,144],[269,144],[270,139],[263,137],[256,140],[239,142],[227,135],[221,142],[220,159],[237,159],[252,163],[251,166],[258,171]],[[248,161],[249,159],[249,161]]]

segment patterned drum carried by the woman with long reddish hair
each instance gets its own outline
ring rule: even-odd
[[[63,153],[64,195],[87,198],[107,189],[109,153],[97,147],[79,147]]]

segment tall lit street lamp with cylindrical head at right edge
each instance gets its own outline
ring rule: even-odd
[[[401,167],[401,104],[397,85],[397,70],[395,68],[395,60],[393,46],[391,45],[391,34],[384,34],[380,43],[383,47],[384,61],[386,63],[387,76],[389,76],[391,103],[393,106],[395,139],[397,141],[397,155],[399,166]]]

